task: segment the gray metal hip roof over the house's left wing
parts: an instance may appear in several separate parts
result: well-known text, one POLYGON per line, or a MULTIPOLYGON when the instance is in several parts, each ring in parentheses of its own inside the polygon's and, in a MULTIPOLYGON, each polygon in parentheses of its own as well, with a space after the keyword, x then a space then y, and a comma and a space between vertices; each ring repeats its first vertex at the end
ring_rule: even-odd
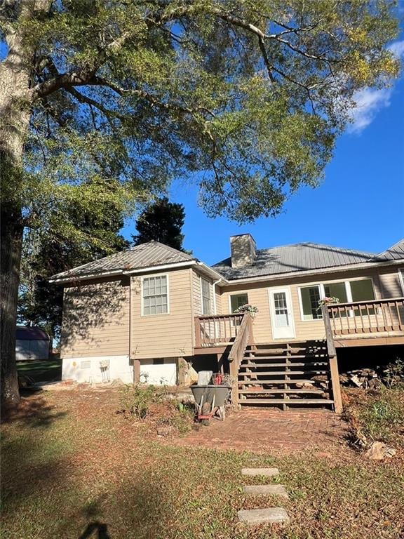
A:
POLYGON ((86 275, 102 274, 105 272, 139 270, 143 267, 159 266, 161 264, 175 264, 187 262, 196 258, 177 251, 173 247, 159 243, 159 241, 148 241, 133 248, 105 256, 99 260, 88 262, 82 266, 74 267, 67 272, 53 275, 52 279, 66 279, 68 277, 83 277, 86 275))

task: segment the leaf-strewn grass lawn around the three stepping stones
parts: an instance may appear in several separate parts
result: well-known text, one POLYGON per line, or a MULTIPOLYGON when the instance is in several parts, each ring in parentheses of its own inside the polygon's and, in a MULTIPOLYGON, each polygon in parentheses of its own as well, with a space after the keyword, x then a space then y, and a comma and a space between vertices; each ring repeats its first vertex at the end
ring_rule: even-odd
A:
POLYGON ((101 539, 398 539, 402 453, 383 463, 342 446, 268 457, 170 445, 128 420, 119 392, 46 392, 2 427, 0 537, 101 539), (290 500, 242 491, 241 467, 274 465, 290 500), (240 509, 282 505, 289 526, 248 528, 240 509))

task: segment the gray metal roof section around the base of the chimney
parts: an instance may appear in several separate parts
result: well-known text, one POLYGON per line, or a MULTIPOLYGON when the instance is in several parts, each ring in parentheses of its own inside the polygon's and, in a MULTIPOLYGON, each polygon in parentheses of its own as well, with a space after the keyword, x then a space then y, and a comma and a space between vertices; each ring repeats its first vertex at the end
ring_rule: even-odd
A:
POLYGON ((233 280, 358 264, 372 256, 373 253, 363 251, 305 243, 257 250, 255 262, 249 266, 233 268, 231 258, 226 258, 212 267, 226 279, 233 280))

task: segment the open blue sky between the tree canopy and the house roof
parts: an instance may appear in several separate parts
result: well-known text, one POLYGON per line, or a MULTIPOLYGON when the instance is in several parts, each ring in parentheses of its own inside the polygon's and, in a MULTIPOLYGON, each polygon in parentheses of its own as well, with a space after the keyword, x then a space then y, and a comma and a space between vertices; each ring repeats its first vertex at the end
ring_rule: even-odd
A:
MULTIPOLYGON (((396 44, 404 53, 404 41, 396 44)), ((313 241, 379 253, 404 237, 404 76, 392 88, 357 96, 354 124, 337 141, 316 189, 302 188, 276 218, 238 226, 207 218, 196 187, 173 185, 185 206, 184 246, 208 264, 229 255, 229 236, 250 232, 258 248, 313 241)), ((133 222, 123 229, 130 237, 133 222)))

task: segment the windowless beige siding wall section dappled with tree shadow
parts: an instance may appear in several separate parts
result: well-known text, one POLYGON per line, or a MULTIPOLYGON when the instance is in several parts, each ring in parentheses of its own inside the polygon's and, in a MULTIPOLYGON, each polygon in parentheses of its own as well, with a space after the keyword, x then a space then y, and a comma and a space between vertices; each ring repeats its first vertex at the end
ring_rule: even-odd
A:
POLYGON ((61 357, 129 353, 129 279, 65 288, 61 357))

